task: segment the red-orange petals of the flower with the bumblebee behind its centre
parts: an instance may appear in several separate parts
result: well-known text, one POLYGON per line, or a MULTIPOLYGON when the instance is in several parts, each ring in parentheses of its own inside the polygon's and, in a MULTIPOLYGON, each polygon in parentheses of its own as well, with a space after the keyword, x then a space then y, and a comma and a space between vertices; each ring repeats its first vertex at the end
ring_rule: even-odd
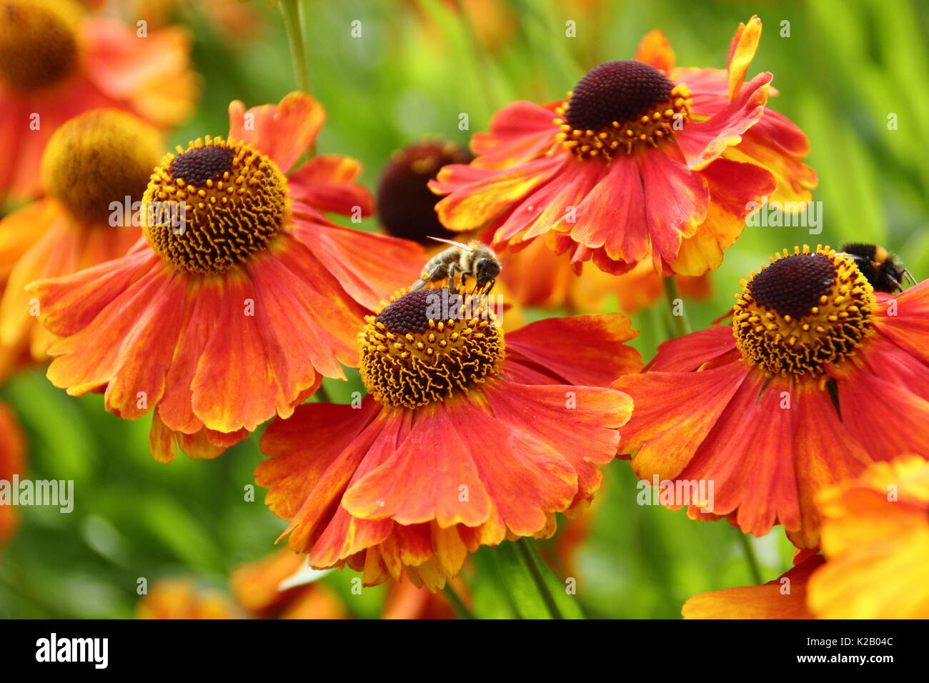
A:
POLYGON ((765 377, 740 359, 728 326, 666 342, 649 372, 613 385, 635 401, 622 453, 635 453, 641 479, 712 480, 713 515, 691 505, 692 519, 726 516, 754 535, 782 524, 794 545, 816 547, 820 491, 897 453, 929 458, 929 361, 909 346, 924 334, 927 297, 922 282, 889 315, 879 296, 877 334, 821 380, 765 377), (830 376, 855 419, 840 420, 830 376))

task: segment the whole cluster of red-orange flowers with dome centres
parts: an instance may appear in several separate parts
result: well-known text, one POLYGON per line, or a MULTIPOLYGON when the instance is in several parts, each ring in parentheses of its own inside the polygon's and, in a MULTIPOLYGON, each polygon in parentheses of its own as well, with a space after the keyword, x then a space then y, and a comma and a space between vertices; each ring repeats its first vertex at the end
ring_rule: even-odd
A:
MULTIPOLYGON (((693 598, 687 616, 744 615, 755 600, 767 615, 913 613, 925 563, 899 568, 929 537, 925 282, 897 293, 845 252, 785 249, 741 282, 731 324, 666 342, 644 368, 620 314, 504 333, 462 285, 481 314, 437 319, 433 290, 410 287, 420 244, 326 217, 370 216, 374 202, 355 160, 301 161, 325 119, 316 99, 232 102, 227 137, 164 153, 159 128, 194 95, 183 34, 165 30, 149 54, 71 5, 8 0, 0 27, 0 190, 39 197, 0 223, 0 370, 50 354, 56 387, 150 414, 164 463, 177 449, 214 458, 272 420, 255 480, 290 522, 282 537, 365 584, 436 591, 481 545, 552 535, 620 454, 648 481, 712 480, 709 509, 675 504, 693 519, 754 535, 781 525, 798 548, 787 576, 804 589, 790 601, 767 584, 693 598), (60 48, 28 52, 42 41, 60 48), (183 206, 184 222, 114 226, 124 196, 143 217, 183 206), (360 367, 365 398, 305 402, 343 366, 360 367), (879 552, 895 574, 880 595, 879 552)), ((675 66, 649 33, 635 59, 595 67, 566 98, 498 112, 473 159, 435 144, 400 154, 384 188, 422 191, 412 169, 444 198, 423 217, 382 197, 382 213, 407 230, 438 216, 508 252, 502 288, 517 306, 576 305, 581 282, 602 293, 619 276, 650 292, 635 306, 661 278, 699 289, 752 203, 802 204, 817 182, 805 135, 767 106, 772 74, 746 80, 760 34, 757 18, 740 25, 726 69, 709 69, 675 66), (595 269, 576 278, 585 262, 595 269), (527 290, 530 269, 551 286, 527 290)), ((0 412, 0 476, 21 450, 7 422, 0 412)))

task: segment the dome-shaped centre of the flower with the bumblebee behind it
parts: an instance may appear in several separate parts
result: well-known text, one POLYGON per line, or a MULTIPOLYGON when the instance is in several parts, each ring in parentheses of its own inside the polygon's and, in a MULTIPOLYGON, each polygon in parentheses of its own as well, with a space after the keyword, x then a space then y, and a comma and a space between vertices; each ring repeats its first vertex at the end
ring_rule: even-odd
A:
POLYGON ((742 281, 732 330, 742 357, 767 373, 817 376, 872 334, 877 300, 851 259, 828 246, 793 251, 742 281))

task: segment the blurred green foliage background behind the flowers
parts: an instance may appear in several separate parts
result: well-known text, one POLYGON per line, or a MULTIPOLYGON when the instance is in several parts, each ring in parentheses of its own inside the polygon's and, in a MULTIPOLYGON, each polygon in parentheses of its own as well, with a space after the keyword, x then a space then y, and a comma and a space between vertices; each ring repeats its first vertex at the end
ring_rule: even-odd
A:
MULTIPOLYGON (((280 9, 265 0, 229 4, 237 6, 229 11, 246 12, 244 32, 240 26, 230 33, 221 3, 181 2, 170 10, 172 20, 190 27, 203 74, 198 113, 172 134, 172 145, 225 135, 232 99, 252 106, 294 89, 280 9)), ((466 144, 507 102, 561 98, 597 63, 632 58, 651 29, 668 35, 680 65, 725 68, 739 21, 756 13, 765 30, 750 75, 774 73, 780 95, 769 105, 811 139, 808 163, 820 178, 814 199, 823 203, 824 230, 746 229, 713 272, 712 300, 687 305, 691 325, 707 326, 730 306, 741 276, 794 244, 882 243, 918 280, 929 272, 924 2, 307 0, 304 7, 312 90, 328 113, 318 150, 359 158, 369 188, 398 147, 427 135, 466 144), (360 37, 350 34, 353 21, 360 21, 360 37), (575 22, 576 37, 566 36, 567 21, 575 22), (782 37, 788 25, 790 35, 782 37), (462 112, 469 131, 458 129, 462 112), (896 130, 888 129, 889 114, 896 114, 896 130)), ((376 217, 362 228, 375 226, 376 217)), ((662 339, 661 315, 652 309, 634 318, 643 331, 635 346, 646 360, 662 339)), ((347 385, 327 380, 334 400, 348 401, 360 389, 352 376, 347 385)), ((20 531, 0 550, 0 616, 127 617, 139 577, 151 585, 194 574, 225 587, 230 569, 272 551, 284 523, 263 505, 263 491, 254 502, 243 495, 261 459, 258 435, 215 461, 179 455, 160 466, 148 449, 149 418, 117 419, 104 413, 98 396, 71 399, 41 370, 12 378, 0 398, 27 432, 28 476, 74 479, 76 497, 70 515, 20 508, 20 531)), ((588 535, 569 569, 556 563, 562 578, 567 571, 576 576, 587 614, 677 618, 695 593, 752 583, 738 534, 725 522, 638 506, 635 494, 628 465, 609 466, 588 535)), ((782 532, 752 544, 765 580, 789 567, 792 547, 782 532)), ((557 555, 553 542, 542 545, 557 555)), ((465 572, 475 611, 512 615, 493 561, 482 550, 465 572)), ((322 580, 346 596, 355 615, 376 616, 384 587, 351 595, 353 575, 322 580)))

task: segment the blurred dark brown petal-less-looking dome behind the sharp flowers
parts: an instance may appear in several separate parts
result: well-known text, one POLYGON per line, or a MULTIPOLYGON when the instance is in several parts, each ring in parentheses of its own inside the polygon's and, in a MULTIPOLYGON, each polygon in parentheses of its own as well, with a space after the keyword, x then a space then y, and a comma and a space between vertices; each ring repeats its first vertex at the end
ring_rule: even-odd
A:
POLYGON ((427 183, 446 164, 468 164, 472 156, 445 140, 415 142, 395 151, 381 173, 377 186, 377 210, 387 232, 394 237, 428 243, 429 237, 455 238, 456 233, 438 222, 440 197, 427 183))

